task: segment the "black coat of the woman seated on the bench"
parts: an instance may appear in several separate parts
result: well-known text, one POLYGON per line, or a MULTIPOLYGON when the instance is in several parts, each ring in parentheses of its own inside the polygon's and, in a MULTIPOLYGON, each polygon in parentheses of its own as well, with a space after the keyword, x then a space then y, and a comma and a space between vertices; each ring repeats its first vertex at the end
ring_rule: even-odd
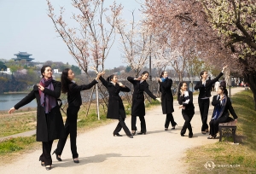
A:
MULTIPOLYGON (((217 98, 217 96, 213 96, 213 98, 212 98, 212 106, 214 106, 213 113, 214 113, 214 110, 216 109, 216 106, 218 104, 220 104, 219 97, 217 98)), ((222 115, 220 117, 229 116, 229 111, 230 111, 230 113, 231 113, 231 115, 233 116, 234 119, 238 118, 235 111, 234 111, 234 108, 232 107, 230 97, 228 97, 228 101, 227 101, 226 106, 224 108, 224 112, 222 113, 222 115)), ((213 117, 213 113, 212 113, 212 117, 213 117)))

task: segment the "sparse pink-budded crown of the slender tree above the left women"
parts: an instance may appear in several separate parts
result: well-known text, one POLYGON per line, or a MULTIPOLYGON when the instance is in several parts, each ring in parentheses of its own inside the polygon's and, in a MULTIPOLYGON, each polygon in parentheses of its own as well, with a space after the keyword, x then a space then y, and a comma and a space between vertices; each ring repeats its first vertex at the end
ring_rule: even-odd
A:
POLYGON ((118 16, 122 6, 113 3, 110 9, 104 8, 104 0, 72 0, 72 19, 77 26, 68 26, 64 20, 65 9, 61 7, 59 16, 56 16, 54 7, 47 0, 49 17, 53 21, 55 30, 67 44, 73 58, 85 73, 89 66, 102 66, 114 41, 114 28, 119 22, 118 16))

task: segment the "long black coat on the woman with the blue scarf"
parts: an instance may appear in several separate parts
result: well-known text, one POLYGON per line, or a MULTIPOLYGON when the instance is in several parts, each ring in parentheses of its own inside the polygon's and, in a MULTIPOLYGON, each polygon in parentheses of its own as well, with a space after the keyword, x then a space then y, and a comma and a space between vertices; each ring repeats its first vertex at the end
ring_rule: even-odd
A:
POLYGON ((161 105, 164 114, 173 113, 173 96, 172 96, 172 79, 166 78, 164 82, 160 83, 161 105))

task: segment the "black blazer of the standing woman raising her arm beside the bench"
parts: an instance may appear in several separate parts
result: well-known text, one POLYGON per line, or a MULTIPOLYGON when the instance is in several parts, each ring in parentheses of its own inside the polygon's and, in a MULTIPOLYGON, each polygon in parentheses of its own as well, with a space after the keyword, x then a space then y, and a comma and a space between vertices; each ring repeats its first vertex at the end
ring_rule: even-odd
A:
POLYGON ((224 73, 219 73, 218 76, 212 80, 207 79, 206 86, 202 84, 202 81, 197 82, 195 84, 195 90, 199 89, 199 96, 198 98, 204 98, 204 97, 210 97, 211 96, 211 89, 212 84, 218 81, 218 78, 220 78, 224 73))

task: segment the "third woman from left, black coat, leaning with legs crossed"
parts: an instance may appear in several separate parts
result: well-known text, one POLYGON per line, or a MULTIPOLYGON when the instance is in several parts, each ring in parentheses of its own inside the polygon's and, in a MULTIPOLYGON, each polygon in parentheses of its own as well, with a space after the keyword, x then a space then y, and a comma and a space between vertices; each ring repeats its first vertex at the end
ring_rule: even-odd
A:
POLYGON ((126 87, 124 84, 118 82, 118 78, 116 75, 111 75, 107 78, 107 81, 100 77, 102 84, 107 88, 109 98, 108 98, 108 119, 119 119, 119 124, 116 126, 113 131, 113 136, 121 136, 119 131, 123 128, 126 136, 133 138, 131 132, 128 127, 125 125, 125 107, 122 102, 121 97, 119 96, 119 92, 130 92, 130 89, 126 87))

